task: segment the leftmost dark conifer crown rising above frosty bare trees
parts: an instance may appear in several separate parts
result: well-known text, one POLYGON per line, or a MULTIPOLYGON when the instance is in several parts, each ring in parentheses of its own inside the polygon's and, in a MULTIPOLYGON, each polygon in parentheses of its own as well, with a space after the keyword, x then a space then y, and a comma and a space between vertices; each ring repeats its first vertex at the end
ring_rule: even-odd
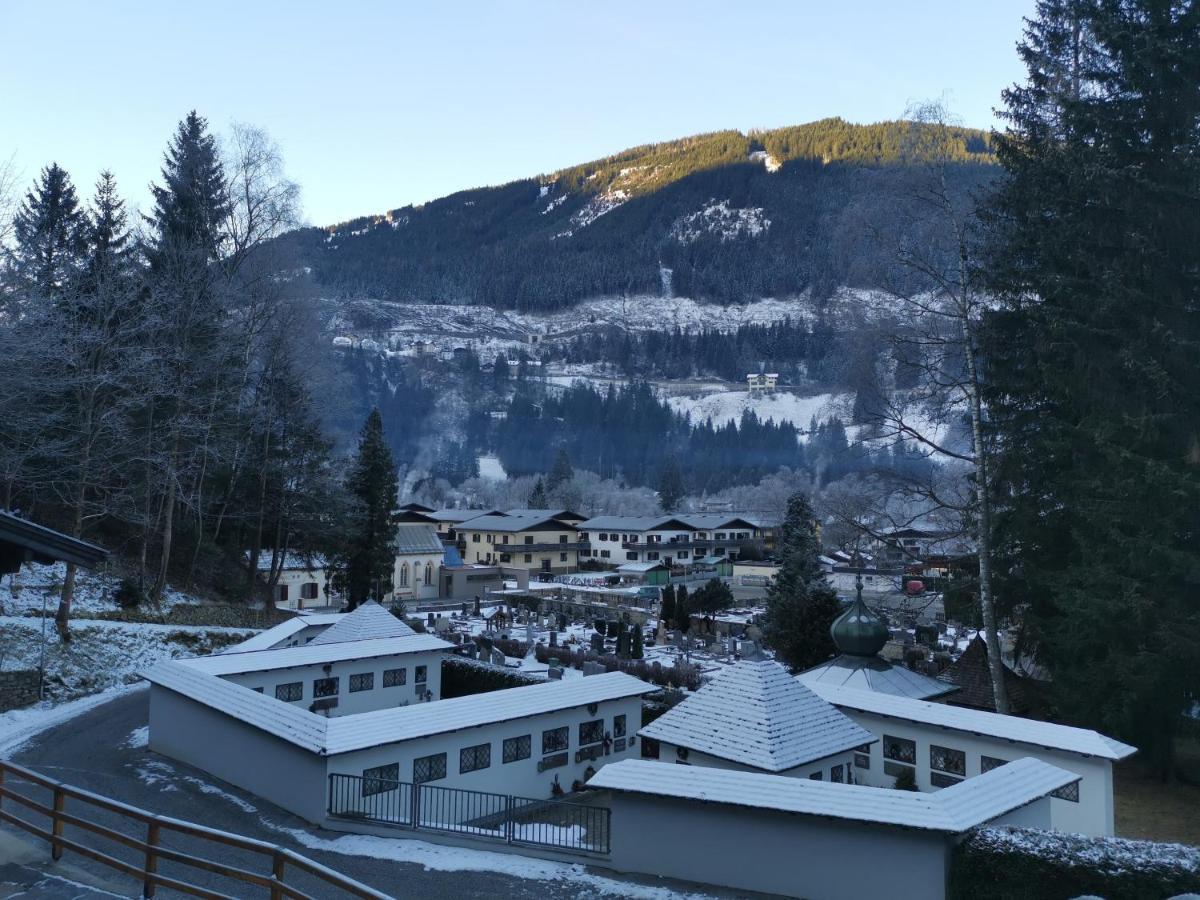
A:
POLYGON ((86 253, 88 222, 71 176, 58 163, 42 169, 13 217, 13 269, 42 296, 65 290, 86 253))

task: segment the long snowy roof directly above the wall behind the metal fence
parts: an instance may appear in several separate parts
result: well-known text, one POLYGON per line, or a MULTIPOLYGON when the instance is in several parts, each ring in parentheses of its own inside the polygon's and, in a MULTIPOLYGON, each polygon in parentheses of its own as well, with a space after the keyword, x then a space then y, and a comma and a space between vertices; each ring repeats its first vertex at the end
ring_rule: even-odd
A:
POLYGON ((637 697, 654 690, 654 685, 634 676, 607 672, 588 678, 529 684, 452 700, 343 715, 329 720, 326 752, 344 754, 448 731, 574 709, 606 700, 637 697))

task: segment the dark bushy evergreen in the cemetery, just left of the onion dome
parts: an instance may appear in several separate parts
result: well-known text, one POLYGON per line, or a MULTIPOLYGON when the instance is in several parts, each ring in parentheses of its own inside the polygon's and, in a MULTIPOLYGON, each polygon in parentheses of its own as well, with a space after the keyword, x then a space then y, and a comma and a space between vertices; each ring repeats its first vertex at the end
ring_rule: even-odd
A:
POLYGON ((841 614, 838 594, 821 569, 821 541, 803 493, 787 500, 776 556, 780 568, 767 589, 763 638, 780 662, 802 672, 834 655, 829 626, 841 614))

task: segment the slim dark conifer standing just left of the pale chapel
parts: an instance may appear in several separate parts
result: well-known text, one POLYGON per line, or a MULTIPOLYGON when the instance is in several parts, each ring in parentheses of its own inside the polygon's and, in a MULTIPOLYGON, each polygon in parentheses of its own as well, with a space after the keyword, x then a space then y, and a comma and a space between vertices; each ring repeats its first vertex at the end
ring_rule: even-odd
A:
POLYGON ((353 610, 391 589, 396 565, 398 481, 378 409, 371 410, 362 426, 347 487, 358 502, 346 554, 346 588, 353 610))

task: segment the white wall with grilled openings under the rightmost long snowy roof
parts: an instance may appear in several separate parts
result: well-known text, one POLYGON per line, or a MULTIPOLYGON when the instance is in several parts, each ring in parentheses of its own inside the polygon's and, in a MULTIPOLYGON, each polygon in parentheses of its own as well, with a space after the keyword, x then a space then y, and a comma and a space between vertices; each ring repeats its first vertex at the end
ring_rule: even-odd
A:
POLYGON ((859 784, 877 787, 892 787, 895 776, 884 773, 883 736, 892 734, 907 738, 917 744, 917 786, 922 791, 940 790, 930 781, 929 748, 930 744, 962 750, 966 754, 966 776, 980 774, 980 756, 994 756, 1000 760, 1018 760, 1033 756, 1082 776, 1079 784, 1079 803, 1052 798, 1050 815, 1054 828, 1060 832, 1111 836, 1112 823, 1112 764, 1108 760, 1069 754, 1061 750, 1048 750, 1030 744, 1019 744, 1003 738, 989 738, 962 731, 908 722, 902 719, 889 719, 874 713, 863 713, 847 707, 839 707, 860 726, 870 731, 878 742, 871 744, 870 768, 856 768, 859 784))

